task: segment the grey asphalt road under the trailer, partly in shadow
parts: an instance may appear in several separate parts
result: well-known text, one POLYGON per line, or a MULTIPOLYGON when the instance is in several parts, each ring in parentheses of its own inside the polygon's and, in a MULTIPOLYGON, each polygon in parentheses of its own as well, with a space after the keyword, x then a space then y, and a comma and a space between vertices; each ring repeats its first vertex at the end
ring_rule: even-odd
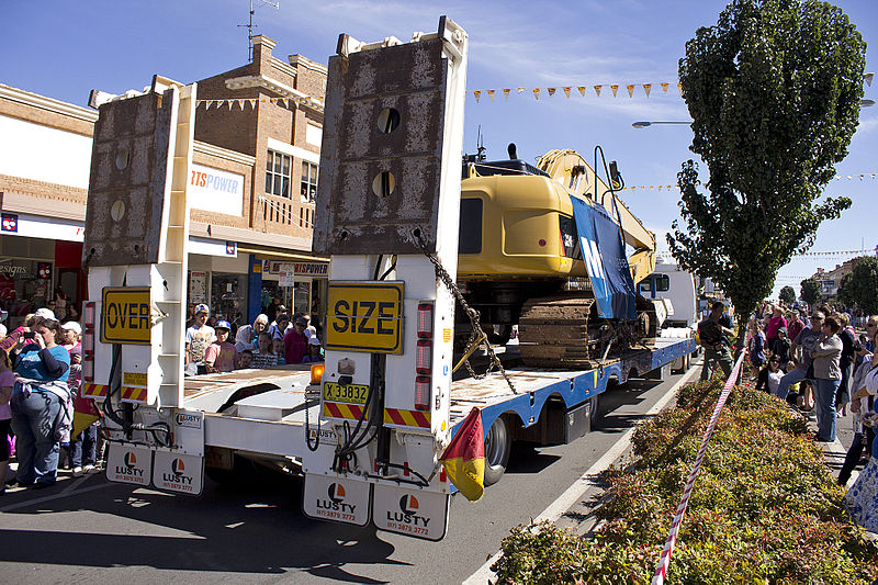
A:
MULTIPOLYGON (((571 445, 517 446, 506 475, 481 502, 452 498, 449 533, 440 542, 309 520, 300 511, 295 479, 247 488, 205 480, 195 498, 110 484, 102 475, 65 475, 53 488, 0 497, 0 574, 4 582, 31 585, 460 583, 497 552, 511 527, 539 516, 642 420, 679 378, 612 389, 603 396, 599 427, 571 445)), ((561 521, 575 527, 584 511, 576 504, 561 521)))

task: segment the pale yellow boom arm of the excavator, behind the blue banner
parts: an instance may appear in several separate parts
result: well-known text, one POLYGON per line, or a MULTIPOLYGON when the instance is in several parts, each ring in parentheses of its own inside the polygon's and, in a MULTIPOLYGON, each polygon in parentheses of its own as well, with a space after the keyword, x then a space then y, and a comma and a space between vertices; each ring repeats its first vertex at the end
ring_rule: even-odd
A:
POLYGON ((616 195, 614 189, 575 150, 550 150, 537 161, 537 167, 589 204, 599 203, 622 232, 634 252, 628 257, 634 284, 655 270, 655 235, 646 229, 631 210, 616 195))

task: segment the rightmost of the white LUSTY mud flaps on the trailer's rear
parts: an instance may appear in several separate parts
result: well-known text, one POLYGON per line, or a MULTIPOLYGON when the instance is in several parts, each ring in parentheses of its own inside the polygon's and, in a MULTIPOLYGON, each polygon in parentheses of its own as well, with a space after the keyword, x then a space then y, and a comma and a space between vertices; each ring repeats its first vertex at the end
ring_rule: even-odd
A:
POLYGON ((372 521, 379 530, 442 540, 448 531, 450 503, 449 494, 375 485, 372 521))

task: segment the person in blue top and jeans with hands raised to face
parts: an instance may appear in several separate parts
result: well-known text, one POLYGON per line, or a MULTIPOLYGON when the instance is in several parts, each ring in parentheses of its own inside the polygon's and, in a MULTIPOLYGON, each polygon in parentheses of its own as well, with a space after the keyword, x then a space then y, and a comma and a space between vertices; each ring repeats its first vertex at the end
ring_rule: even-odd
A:
POLYGON ((69 442, 72 401, 67 376, 70 355, 57 344, 60 324, 36 317, 18 333, 11 351, 15 371, 12 430, 19 458, 19 485, 48 487, 58 472, 61 442, 69 442))

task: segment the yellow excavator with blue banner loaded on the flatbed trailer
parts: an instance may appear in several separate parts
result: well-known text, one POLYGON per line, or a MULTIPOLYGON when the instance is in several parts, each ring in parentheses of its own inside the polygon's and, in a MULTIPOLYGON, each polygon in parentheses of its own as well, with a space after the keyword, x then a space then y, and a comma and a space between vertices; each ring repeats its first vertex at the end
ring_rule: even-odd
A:
POLYGON ((655 269, 655 236, 616 194, 616 162, 604 168, 607 182, 574 150, 534 167, 515 145, 508 160, 464 157, 458 282, 489 341, 518 325, 528 365, 594 367, 658 327, 635 292, 655 269))

